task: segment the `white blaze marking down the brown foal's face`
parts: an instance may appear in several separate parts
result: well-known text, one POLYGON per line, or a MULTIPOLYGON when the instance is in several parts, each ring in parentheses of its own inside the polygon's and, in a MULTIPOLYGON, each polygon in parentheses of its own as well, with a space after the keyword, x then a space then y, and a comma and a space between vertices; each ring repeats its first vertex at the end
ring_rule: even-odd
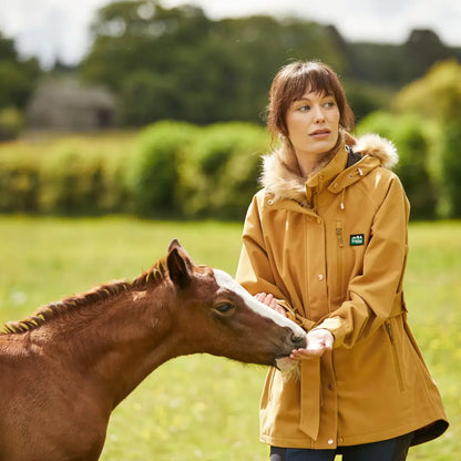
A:
POLYGON ((234 278, 232 278, 227 273, 219 269, 213 269, 216 283, 223 287, 227 288, 230 291, 236 293, 245 304, 255 313, 259 314, 263 317, 272 319, 275 324, 280 325, 281 327, 289 327, 297 335, 306 335, 301 327, 296 325, 294 321, 284 317, 281 314, 277 313, 269 306, 258 301, 254 298, 242 285, 239 285, 234 278))

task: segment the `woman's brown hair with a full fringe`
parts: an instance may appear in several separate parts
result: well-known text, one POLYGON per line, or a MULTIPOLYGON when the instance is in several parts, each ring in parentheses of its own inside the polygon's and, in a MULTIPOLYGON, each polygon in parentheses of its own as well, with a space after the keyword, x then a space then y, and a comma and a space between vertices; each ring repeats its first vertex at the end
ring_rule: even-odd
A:
POLYGON ((332 95, 339 109, 339 125, 345 130, 354 127, 355 115, 335 71, 321 62, 296 61, 283 66, 270 86, 267 127, 273 136, 288 136, 286 113, 306 90, 332 95))

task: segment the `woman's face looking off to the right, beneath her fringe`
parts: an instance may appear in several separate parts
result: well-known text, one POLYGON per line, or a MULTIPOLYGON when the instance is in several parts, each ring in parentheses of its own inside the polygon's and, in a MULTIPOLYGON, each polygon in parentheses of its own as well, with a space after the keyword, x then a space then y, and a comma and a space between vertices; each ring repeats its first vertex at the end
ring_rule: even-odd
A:
POLYGON ((339 109, 331 95, 306 91, 286 114, 288 137, 297 156, 324 154, 335 147, 339 132, 339 109))

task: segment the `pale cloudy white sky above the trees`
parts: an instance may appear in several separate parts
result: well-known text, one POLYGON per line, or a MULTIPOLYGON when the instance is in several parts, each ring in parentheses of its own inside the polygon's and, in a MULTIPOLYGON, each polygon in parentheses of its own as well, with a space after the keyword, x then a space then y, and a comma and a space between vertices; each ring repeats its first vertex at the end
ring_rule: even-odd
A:
MULTIPOLYGON (((0 0, 0 31, 14 39, 20 55, 43 68, 58 58, 76 64, 91 45, 89 25, 110 0, 0 0)), ((201 7, 211 19, 272 14, 334 24, 349 41, 402 43, 412 29, 432 29, 461 47, 459 0, 163 0, 201 7)))

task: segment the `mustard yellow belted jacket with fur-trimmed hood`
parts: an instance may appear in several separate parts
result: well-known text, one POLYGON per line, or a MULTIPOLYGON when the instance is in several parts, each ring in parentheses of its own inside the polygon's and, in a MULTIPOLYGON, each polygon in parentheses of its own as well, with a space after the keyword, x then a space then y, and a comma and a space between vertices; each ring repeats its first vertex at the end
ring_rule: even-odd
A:
POLYGON ((327 328, 334 350, 270 368, 260 439, 277 447, 332 449, 416 431, 413 444, 448 427, 436 383, 407 324, 402 278, 409 204, 386 166, 393 146, 367 135, 342 144, 306 182, 283 151, 264 162, 248 208, 238 281, 270 293, 306 330, 327 328))

